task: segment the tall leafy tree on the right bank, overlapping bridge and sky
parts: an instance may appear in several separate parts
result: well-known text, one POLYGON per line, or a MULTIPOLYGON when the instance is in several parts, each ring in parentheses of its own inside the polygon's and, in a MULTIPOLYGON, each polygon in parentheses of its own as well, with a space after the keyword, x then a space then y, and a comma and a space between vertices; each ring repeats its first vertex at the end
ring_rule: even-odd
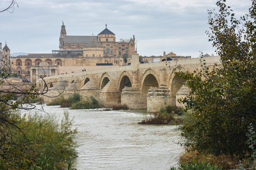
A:
POLYGON ((180 101, 188 111, 180 129, 190 148, 245 156, 247 126, 256 126, 256 0, 238 20, 226 0, 216 5, 218 12, 209 11, 207 35, 222 67, 210 70, 202 58, 193 73, 175 73, 191 89, 180 101))

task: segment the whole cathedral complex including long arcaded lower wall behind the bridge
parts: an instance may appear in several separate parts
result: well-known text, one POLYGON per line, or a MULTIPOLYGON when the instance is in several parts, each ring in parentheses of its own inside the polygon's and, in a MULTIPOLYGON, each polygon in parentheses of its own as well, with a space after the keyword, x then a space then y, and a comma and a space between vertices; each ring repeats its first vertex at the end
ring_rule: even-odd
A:
POLYGON ((130 39, 120 39, 117 42, 115 34, 107 28, 107 25, 97 36, 77 36, 67 35, 62 22, 58 41, 59 50, 52 50, 50 54, 11 57, 11 71, 24 80, 36 81, 42 76, 81 71, 85 67, 93 70, 122 66, 125 65, 123 54, 128 54, 129 63, 131 55, 137 52, 134 35, 130 39))

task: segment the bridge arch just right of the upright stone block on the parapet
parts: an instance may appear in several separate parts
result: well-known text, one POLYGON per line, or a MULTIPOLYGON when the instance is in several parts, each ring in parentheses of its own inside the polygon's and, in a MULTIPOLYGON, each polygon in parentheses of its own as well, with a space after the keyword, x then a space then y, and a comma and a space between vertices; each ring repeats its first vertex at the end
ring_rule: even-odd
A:
POLYGON ((145 108, 147 107, 148 89, 150 87, 159 87, 159 82, 159 76, 157 76, 154 70, 148 69, 143 74, 141 79, 141 102, 144 104, 145 108))

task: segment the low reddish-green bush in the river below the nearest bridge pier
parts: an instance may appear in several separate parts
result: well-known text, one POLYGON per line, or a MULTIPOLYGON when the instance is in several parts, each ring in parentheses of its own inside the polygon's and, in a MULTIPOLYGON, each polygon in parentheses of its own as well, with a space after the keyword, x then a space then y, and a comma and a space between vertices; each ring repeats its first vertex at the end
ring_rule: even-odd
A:
POLYGON ((139 124, 180 124, 182 118, 182 108, 172 107, 170 105, 163 107, 159 112, 145 115, 144 120, 138 122, 139 124))

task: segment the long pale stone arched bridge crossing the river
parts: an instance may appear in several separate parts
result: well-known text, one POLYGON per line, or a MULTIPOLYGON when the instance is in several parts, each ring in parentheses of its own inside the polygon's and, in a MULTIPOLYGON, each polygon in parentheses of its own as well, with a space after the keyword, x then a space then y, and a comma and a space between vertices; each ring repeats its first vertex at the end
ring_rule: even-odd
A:
MULTIPOLYGON (((52 101, 61 93, 65 98, 78 93, 83 98, 94 96, 104 107, 121 103, 129 109, 155 112, 166 105, 176 105, 176 94, 184 80, 175 76, 172 70, 180 65, 184 71, 193 72, 202 65, 200 59, 141 64, 139 54, 133 54, 132 65, 49 76, 40 78, 36 86, 48 88, 42 96, 45 102, 52 101)), ((221 65, 219 56, 203 59, 210 70, 221 65)))

